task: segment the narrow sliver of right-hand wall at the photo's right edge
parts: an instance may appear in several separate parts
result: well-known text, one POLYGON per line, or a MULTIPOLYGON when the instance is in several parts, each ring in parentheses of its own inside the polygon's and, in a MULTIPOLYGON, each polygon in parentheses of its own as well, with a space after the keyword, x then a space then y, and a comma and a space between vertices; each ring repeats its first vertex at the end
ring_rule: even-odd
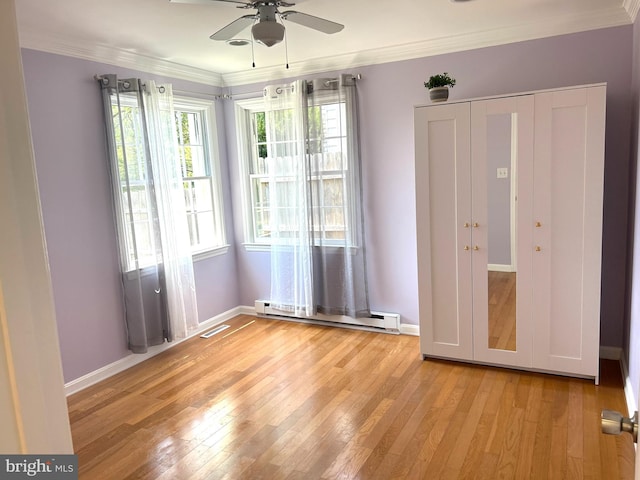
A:
MULTIPOLYGON (((640 160, 640 15, 633 26, 633 73, 632 73, 633 107, 631 130, 631 195, 635 197, 629 216, 631 256, 629 260, 630 274, 627 291, 630 293, 628 323, 625 325, 625 352, 624 360, 629 369, 629 381, 638 406, 640 389, 640 178, 637 175, 638 161, 640 160)), ((633 413, 633 412, 629 412, 633 413)))

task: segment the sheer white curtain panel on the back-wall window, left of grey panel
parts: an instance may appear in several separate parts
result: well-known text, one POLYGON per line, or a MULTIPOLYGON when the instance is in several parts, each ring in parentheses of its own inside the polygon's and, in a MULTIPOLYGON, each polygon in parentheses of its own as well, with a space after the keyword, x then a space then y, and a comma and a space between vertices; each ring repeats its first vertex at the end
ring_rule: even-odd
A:
POLYGON ((312 238, 306 161, 306 82, 264 90, 271 225, 271 306, 312 316, 312 238))

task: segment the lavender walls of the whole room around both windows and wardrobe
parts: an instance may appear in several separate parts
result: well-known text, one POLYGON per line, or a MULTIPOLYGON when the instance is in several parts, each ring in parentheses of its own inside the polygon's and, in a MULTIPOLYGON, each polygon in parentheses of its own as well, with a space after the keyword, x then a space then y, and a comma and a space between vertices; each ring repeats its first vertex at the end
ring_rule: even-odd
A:
MULTIPOLYGON (((452 98, 607 82, 601 344, 622 345, 633 33, 631 26, 618 27, 352 70, 363 74, 361 141, 373 309, 398 312, 403 322, 418 323, 413 106, 427 102, 422 82, 430 74, 448 71, 457 78, 452 98)), ((129 354, 102 106, 93 75, 154 77, 201 94, 218 90, 31 50, 23 50, 23 62, 68 382, 129 354)), ((231 93, 261 87, 236 87, 231 93)), ((195 266, 201 321, 269 295, 268 252, 241 245, 233 102, 218 110, 218 132, 231 248, 195 266)))

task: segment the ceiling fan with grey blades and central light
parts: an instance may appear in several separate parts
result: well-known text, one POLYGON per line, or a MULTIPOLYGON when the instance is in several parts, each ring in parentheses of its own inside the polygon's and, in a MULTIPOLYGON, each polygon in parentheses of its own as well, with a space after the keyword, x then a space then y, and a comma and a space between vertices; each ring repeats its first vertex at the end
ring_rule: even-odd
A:
POLYGON ((284 38, 285 27, 282 24, 282 20, 297 23, 304 27, 309 27, 314 30, 318 30, 323 33, 337 33, 344 28, 341 25, 324 18, 315 17, 306 13, 296 12, 295 10, 287 10, 281 12, 280 7, 290 8, 295 3, 282 2, 282 1, 256 1, 256 2, 243 2, 240 0, 169 0, 171 3, 197 3, 197 4, 211 4, 212 2, 224 2, 238 4, 237 8, 244 9, 256 9, 257 12, 252 15, 244 15, 226 27, 221 28, 216 33, 211 35, 211 40, 228 41, 235 37, 242 30, 253 24, 251 27, 251 35, 253 39, 272 47, 277 43, 280 43, 284 38), (281 20, 280 22, 278 20, 281 20))

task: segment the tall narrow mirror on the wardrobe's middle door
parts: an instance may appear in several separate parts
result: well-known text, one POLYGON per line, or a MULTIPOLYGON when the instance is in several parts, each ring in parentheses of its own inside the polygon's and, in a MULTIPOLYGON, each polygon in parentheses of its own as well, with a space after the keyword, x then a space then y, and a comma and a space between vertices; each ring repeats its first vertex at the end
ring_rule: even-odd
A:
POLYGON ((489 348, 516 350, 516 115, 487 116, 489 348))

